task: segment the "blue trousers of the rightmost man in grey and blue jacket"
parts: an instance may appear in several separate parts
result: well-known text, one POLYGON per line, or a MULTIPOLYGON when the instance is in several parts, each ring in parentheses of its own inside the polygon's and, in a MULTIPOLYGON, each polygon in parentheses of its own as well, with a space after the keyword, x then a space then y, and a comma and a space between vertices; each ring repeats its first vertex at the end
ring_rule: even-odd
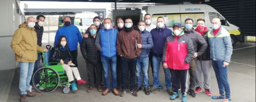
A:
POLYGON ((224 60, 212 60, 213 70, 216 75, 220 95, 226 95, 226 98, 230 98, 230 87, 227 79, 228 67, 222 67, 224 60))

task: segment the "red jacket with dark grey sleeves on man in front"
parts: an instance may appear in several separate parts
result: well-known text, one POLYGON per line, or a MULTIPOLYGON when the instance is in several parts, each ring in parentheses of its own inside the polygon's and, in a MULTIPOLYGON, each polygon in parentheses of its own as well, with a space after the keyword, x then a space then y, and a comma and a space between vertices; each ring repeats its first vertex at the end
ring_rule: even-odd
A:
POLYGON ((189 69, 189 62, 194 56, 194 46, 187 36, 173 36, 166 38, 163 48, 163 63, 167 63, 168 68, 173 70, 189 69))

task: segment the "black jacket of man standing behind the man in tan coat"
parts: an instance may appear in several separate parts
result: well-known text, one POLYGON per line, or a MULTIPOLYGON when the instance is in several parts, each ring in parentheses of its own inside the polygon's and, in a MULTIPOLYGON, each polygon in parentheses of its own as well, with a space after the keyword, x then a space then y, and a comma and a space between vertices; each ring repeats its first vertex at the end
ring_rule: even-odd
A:
POLYGON ((37 45, 42 46, 43 26, 40 27, 36 22, 36 26, 34 28, 35 28, 36 37, 37 37, 37 45))

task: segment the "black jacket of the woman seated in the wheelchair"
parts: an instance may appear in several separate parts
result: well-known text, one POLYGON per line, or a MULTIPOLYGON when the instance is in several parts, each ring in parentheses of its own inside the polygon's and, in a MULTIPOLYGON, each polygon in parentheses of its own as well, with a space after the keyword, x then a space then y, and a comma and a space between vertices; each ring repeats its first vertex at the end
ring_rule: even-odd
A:
MULTIPOLYGON (((52 54, 52 56, 50 57, 50 60, 51 61, 61 61, 61 51, 60 51, 60 47, 61 46, 56 46, 56 47, 54 47, 54 48, 52 48, 52 50, 53 50, 53 54, 52 54)), ((67 46, 68 47, 68 46, 67 46)), ((69 47, 67 48, 67 50, 68 50, 68 57, 66 57, 65 58, 65 60, 63 60, 64 61, 64 63, 68 63, 70 60, 73 60, 73 57, 71 56, 71 54, 70 54, 70 50, 69 50, 69 47)))

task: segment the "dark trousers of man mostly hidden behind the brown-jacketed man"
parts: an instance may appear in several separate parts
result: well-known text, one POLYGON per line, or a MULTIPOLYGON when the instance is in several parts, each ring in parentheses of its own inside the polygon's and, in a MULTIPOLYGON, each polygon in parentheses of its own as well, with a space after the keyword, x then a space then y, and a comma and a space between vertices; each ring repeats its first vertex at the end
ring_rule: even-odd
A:
MULTIPOLYGON (((117 85, 121 86, 122 83, 122 63, 121 63, 121 57, 117 56, 117 60, 116 60, 116 70, 117 70, 117 85)), ((126 87, 129 87, 129 83, 130 83, 130 71, 127 70, 127 74, 126 74, 126 87)))

